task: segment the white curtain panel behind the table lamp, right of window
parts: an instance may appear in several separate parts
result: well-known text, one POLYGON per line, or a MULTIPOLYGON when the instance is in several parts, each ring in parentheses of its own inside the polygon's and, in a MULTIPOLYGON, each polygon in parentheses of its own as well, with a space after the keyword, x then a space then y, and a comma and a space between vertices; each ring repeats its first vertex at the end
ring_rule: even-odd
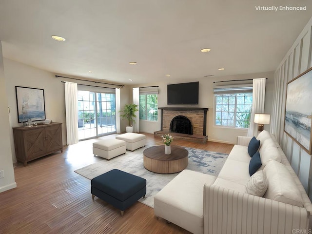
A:
POLYGON ((253 80, 253 107, 250 117, 250 126, 247 133, 248 137, 256 137, 258 135, 258 125, 254 123, 254 114, 264 113, 265 82, 266 78, 258 78, 253 80))

